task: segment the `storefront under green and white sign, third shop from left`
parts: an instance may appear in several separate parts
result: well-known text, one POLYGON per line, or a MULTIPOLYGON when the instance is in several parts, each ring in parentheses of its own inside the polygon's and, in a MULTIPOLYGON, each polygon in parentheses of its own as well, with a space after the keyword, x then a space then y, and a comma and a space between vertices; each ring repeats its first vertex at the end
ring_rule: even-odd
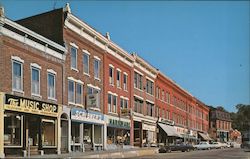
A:
POLYGON ((110 115, 105 115, 107 125, 107 149, 119 149, 130 147, 130 120, 110 115))

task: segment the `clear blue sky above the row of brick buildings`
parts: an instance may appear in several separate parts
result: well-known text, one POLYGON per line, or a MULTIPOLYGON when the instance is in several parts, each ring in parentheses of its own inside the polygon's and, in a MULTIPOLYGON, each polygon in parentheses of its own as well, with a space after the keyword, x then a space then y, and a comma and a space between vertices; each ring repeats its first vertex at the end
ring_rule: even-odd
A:
POLYGON ((61 8, 207 105, 250 104, 249 1, 0 0, 9 19, 61 8))

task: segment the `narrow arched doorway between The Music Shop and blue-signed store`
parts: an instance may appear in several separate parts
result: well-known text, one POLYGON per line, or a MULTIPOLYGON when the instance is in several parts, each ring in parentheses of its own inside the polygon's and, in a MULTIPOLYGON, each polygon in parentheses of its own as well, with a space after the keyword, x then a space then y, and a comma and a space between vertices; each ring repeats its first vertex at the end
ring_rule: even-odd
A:
POLYGON ((61 152, 68 152, 68 118, 66 114, 61 116, 61 152))

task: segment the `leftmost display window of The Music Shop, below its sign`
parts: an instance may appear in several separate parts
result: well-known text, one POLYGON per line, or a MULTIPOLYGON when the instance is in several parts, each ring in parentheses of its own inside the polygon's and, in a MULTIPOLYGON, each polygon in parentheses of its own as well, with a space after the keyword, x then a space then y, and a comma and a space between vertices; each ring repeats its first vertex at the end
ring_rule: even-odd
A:
POLYGON ((22 120, 22 116, 17 113, 4 114, 5 146, 22 146, 22 120))

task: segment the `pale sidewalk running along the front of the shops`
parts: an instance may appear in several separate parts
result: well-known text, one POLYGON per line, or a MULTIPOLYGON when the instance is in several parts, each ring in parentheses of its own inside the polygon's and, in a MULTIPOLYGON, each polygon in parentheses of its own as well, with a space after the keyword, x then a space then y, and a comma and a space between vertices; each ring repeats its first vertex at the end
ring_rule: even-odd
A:
MULTIPOLYGON (((125 150, 107 150, 107 151, 91 151, 91 152, 71 152, 67 154, 51 154, 51 155, 34 155, 30 158, 130 158, 137 156, 153 155, 158 153, 158 148, 132 148, 125 150)), ((28 158, 28 157, 6 157, 8 159, 12 158, 28 158)))

